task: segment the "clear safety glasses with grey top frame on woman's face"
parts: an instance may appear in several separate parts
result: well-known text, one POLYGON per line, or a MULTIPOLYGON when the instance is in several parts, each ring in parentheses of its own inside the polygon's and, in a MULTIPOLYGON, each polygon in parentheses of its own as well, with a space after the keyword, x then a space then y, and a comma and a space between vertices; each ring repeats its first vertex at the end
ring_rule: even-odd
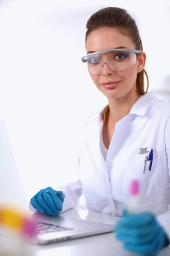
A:
POLYGON ((100 52, 93 52, 81 58, 88 67, 90 75, 97 75, 102 72, 105 63, 114 70, 122 71, 136 63, 136 54, 142 53, 134 49, 108 49, 100 52))

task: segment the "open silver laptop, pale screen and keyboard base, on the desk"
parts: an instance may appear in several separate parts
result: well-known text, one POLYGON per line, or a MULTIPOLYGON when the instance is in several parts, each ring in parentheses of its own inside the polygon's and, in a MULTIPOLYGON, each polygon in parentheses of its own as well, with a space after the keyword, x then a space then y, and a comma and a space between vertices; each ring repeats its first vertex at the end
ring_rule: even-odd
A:
MULTIPOLYGON (((6 125, 0 119, 0 204, 2 203, 28 208, 6 125)), ((49 216, 40 212, 32 214, 37 220, 35 244, 49 244, 113 232, 111 224, 72 219, 62 215, 49 216)))

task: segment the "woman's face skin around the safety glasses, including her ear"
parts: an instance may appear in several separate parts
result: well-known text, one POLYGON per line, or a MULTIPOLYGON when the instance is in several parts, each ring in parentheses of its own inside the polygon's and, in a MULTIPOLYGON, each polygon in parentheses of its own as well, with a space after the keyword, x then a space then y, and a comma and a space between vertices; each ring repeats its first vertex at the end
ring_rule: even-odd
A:
MULTIPOLYGON (((98 52, 120 47, 135 49, 133 41, 131 41, 128 36, 122 35, 117 29, 108 27, 94 30, 90 35, 88 35, 86 41, 87 52, 98 52)), ((107 63, 104 63, 101 73, 91 75, 91 78, 96 87, 108 99, 117 99, 129 94, 130 92, 136 93, 137 73, 141 72, 144 68, 145 60, 145 53, 142 53, 139 56, 136 55, 136 63, 122 71, 114 71, 107 63), (104 87, 102 84, 103 82, 108 81, 118 81, 119 83, 117 83, 116 87, 109 89, 104 87)), ((107 59, 105 61, 107 61, 107 59)))

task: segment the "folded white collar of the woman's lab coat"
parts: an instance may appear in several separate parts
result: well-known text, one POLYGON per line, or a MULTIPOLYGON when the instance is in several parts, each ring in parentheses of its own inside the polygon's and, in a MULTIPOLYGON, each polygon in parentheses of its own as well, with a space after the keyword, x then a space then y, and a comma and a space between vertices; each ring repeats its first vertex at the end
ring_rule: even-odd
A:
MULTIPOLYGON (((138 116, 144 116, 147 109, 149 108, 151 102, 157 99, 156 94, 154 91, 150 91, 149 93, 145 93, 144 95, 140 96, 139 99, 133 104, 129 114, 136 114, 138 116)), ((104 112, 105 108, 102 109, 99 113, 98 121, 101 121, 102 113, 104 112)))

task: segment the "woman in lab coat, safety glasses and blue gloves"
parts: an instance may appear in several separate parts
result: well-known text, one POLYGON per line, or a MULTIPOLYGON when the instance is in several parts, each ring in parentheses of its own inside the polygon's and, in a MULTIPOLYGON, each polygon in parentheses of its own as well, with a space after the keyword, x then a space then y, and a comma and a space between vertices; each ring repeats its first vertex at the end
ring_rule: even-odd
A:
POLYGON ((63 210, 73 208, 84 193, 88 209, 124 216, 115 231, 126 249, 155 255, 170 238, 170 104, 147 93, 146 54, 124 9, 101 9, 86 27, 82 61, 108 106, 86 122, 79 180, 62 191, 42 189, 31 204, 55 215, 64 201, 63 210), (141 193, 128 215, 122 210, 133 179, 141 181, 141 193))

